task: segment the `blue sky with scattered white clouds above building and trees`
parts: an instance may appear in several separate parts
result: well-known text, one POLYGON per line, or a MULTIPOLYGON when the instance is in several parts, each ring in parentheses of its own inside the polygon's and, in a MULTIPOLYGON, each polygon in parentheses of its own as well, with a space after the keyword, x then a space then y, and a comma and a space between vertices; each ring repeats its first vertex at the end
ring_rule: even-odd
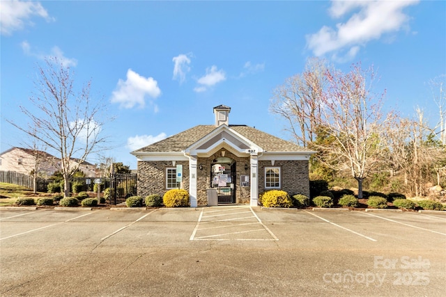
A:
POLYGON ((132 150, 212 125, 220 104, 230 124, 291 139, 270 98, 312 56, 341 70, 374 65, 386 109, 438 118, 426 83, 446 73, 446 1, 2 0, 0 11, 1 152, 23 146, 6 119, 26 123, 18 106, 29 106, 48 56, 72 67, 78 86, 91 79, 93 99, 116 117, 103 155, 131 168, 132 150))

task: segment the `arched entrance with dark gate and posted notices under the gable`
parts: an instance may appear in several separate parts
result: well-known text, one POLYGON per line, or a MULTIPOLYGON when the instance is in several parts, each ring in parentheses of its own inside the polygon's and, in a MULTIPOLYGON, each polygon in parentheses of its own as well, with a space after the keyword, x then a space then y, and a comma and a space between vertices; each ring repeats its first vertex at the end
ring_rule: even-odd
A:
POLYGON ((236 161, 220 156, 210 164, 210 187, 217 189, 219 204, 236 203, 236 161))

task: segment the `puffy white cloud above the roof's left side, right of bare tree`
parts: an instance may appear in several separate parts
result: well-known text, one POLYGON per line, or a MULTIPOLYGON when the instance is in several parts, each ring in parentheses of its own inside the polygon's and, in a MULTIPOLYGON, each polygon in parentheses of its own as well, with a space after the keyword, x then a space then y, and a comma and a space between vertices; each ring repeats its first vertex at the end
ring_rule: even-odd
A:
MULTIPOLYGON (((146 106, 146 97, 156 99, 160 96, 161 90, 157 86, 157 81, 152 77, 142 77, 133 70, 127 71, 127 80, 118 80, 116 90, 112 93, 112 103, 119 103, 124 109, 131 109, 139 104, 139 107, 146 106)), ((153 104, 153 102, 150 102, 153 104)), ((154 107, 157 111, 157 106, 154 107)))

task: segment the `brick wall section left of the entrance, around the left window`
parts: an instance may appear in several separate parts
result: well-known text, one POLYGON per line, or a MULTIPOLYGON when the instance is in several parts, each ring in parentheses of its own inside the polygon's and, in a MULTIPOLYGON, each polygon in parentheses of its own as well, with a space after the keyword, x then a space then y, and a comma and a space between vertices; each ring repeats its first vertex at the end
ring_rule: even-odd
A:
MULTIPOLYGON (((176 161, 175 165, 183 165, 183 188, 189 191, 189 162, 176 161)), ((138 161, 138 195, 158 194, 161 197, 166 188, 166 168, 174 168, 172 161, 138 161)))

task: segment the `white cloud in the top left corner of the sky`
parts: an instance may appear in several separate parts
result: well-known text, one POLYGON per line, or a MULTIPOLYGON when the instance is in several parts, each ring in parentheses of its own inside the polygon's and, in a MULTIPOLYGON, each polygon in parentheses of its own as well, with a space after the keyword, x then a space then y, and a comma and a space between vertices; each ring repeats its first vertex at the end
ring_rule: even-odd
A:
POLYGON ((35 1, 0 1, 0 31, 3 35, 11 35, 21 30, 25 22, 33 24, 29 19, 34 15, 43 17, 47 22, 53 21, 40 2, 35 1))

